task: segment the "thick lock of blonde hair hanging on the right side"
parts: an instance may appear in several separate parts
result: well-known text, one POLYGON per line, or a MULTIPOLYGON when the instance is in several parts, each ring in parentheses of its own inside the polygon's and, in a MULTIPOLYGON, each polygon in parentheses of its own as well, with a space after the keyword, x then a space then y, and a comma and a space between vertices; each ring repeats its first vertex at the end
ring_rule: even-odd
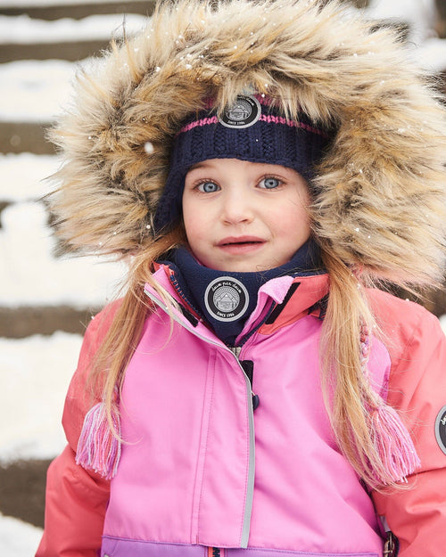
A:
POLYGON ((361 351, 361 330, 378 334, 364 284, 328 250, 322 258, 330 277, 322 326, 320 362, 326 408, 343 455, 369 487, 404 487, 392 478, 377 450, 374 411, 384 401, 372 389, 361 351))

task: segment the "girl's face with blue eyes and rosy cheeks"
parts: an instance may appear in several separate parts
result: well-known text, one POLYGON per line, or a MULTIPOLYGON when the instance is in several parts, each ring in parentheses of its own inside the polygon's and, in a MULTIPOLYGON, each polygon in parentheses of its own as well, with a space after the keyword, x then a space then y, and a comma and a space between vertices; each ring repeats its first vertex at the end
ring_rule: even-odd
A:
POLYGON ((307 183, 291 168, 238 159, 204 160, 186 175, 189 247, 219 271, 284 265, 310 237, 307 183))

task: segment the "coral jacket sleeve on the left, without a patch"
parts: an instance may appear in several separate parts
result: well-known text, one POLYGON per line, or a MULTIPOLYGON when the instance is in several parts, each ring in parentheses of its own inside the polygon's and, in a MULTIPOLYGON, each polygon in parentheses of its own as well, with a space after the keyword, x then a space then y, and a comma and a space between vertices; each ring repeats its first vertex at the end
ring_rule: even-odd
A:
POLYGON ((96 557, 101 547, 110 482, 76 464, 85 414, 97 402, 88 393, 87 374, 110 324, 113 307, 88 325, 78 368, 70 382, 62 423, 68 446, 51 463, 46 478, 45 529, 36 557, 96 557))

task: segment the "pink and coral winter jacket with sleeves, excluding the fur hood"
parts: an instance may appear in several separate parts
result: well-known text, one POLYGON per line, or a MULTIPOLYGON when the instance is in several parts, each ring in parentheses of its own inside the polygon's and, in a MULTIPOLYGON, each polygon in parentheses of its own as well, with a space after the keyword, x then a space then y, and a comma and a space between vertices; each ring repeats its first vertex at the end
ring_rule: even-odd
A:
MULTIPOLYGON (((169 290, 161 267, 158 280, 169 290)), ((260 289, 240 353, 203 324, 175 312, 151 315, 126 374, 118 473, 109 482, 74 463, 87 364, 106 331, 87 330, 63 423, 69 446, 48 473, 45 534, 38 557, 382 557, 380 520, 333 437, 319 386, 321 321, 314 307, 326 275, 291 277, 260 289), (281 311, 278 311, 281 309, 281 311), (240 362, 253 362, 252 389, 240 362), (111 487, 111 488, 110 488, 111 487), (209 549, 211 548, 211 549, 209 549), (216 549, 212 549, 216 548, 216 549), (213 552, 213 553, 212 553, 213 552)), ((146 293, 162 306, 155 292, 146 293)), ((173 291, 171 291, 174 294, 173 291)), ((434 423, 446 404, 446 341, 422 307, 370 291, 390 348, 374 339, 369 372, 402 412, 422 461, 415 489, 372 494, 400 538, 401 557, 440 557, 446 544, 446 455, 434 423), (403 321, 402 321, 403 320, 403 321)))

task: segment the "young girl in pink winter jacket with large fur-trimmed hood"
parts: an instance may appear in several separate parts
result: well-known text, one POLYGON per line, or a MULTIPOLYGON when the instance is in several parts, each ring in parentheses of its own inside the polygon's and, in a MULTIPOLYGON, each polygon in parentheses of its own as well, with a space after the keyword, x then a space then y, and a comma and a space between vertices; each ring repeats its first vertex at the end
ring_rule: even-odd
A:
POLYGON ((54 130, 88 326, 39 557, 440 557, 444 111, 337 2, 169 4, 54 130))

